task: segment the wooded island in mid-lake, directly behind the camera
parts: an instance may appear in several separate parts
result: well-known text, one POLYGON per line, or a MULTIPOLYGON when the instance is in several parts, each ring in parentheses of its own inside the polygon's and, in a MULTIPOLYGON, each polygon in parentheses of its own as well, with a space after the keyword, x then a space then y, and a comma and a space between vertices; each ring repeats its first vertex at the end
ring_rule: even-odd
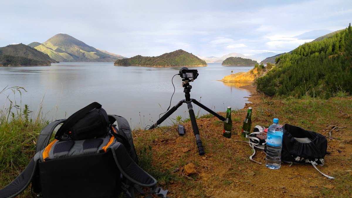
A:
POLYGON ((131 58, 124 58, 117 60, 115 66, 148 66, 148 67, 202 67, 207 66, 207 63, 197 56, 183 51, 182 49, 173 52, 165 53, 160 56, 133 56, 131 58))

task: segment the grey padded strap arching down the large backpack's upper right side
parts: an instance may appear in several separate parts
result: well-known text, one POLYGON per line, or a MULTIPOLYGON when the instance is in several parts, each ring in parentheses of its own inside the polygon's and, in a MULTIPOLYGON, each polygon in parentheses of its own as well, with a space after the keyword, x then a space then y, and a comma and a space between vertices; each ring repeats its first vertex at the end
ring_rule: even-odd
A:
POLYGON ((115 121, 117 122, 117 134, 120 134, 126 138, 128 143, 131 146, 131 157, 138 164, 138 157, 136 153, 136 149, 134 148, 133 144, 133 139, 132 139, 132 133, 131 133, 131 128, 130 124, 128 124, 128 121, 126 118, 122 116, 117 116, 117 115, 108 115, 109 118, 109 123, 113 124, 115 121))

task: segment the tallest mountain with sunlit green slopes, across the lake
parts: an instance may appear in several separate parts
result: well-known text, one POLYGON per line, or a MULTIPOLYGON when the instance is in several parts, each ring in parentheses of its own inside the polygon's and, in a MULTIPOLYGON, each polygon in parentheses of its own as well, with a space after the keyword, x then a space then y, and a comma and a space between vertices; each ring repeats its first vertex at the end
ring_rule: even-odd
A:
POLYGON ((67 34, 59 33, 44 43, 33 42, 29 46, 64 62, 114 62, 122 56, 102 52, 67 34))

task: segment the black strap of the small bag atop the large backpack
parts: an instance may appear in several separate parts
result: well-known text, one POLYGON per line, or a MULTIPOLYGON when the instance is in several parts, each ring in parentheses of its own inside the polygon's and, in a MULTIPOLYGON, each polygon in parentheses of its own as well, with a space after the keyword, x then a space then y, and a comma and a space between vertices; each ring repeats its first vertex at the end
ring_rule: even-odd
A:
POLYGON ((101 104, 94 102, 72 114, 66 119, 65 123, 59 128, 59 130, 57 130, 57 133, 55 134, 55 139, 59 140, 60 137, 64 134, 64 132, 69 130, 69 128, 74 125, 79 119, 83 118, 87 113, 89 113, 89 111, 100 107, 101 104))

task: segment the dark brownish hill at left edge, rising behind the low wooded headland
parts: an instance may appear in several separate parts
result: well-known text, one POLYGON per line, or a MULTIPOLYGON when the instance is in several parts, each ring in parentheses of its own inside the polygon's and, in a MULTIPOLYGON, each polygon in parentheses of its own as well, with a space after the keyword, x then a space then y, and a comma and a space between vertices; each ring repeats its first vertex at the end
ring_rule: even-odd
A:
POLYGON ((0 55, 10 55, 15 57, 20 56, 24 58, 30 58, 32 60, 49 63, 49 65, 50 63, 57 63, 56 60, 53 60, 48 55, 43 54, 42 52, 22 43, 17 45, 7 45, 6 47, 0 48, 0 55))

